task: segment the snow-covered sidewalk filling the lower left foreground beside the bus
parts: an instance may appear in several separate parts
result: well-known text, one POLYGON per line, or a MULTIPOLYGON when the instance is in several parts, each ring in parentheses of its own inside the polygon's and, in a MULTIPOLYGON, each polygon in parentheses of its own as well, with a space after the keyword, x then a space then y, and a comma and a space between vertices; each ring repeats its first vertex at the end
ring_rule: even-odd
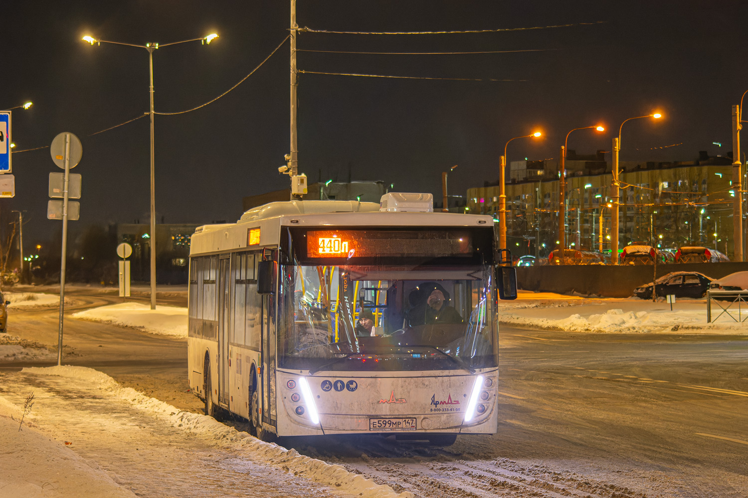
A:
POLYGON ((0 373, 0 386, 0 498, 412 497, 85 367, 0 373), (19 434, 8 417, 31 393, 19 434))

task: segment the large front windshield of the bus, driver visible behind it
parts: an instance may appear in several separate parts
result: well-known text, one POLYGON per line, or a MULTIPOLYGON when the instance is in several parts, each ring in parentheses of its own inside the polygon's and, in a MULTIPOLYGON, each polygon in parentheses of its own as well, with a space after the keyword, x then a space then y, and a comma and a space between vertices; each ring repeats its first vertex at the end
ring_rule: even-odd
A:
POLYGON ((279 367, 458 370, 497 365, 491 265, 281 265, 279 367))

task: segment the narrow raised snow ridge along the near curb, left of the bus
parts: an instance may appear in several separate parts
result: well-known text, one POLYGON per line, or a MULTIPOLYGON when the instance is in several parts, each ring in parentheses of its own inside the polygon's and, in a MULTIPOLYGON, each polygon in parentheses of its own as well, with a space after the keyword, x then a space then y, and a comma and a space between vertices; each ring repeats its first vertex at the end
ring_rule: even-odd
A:
POLYGON ((27 367, 22 370, 28 373, 81 379, 96 382, 99 389, 108 391, 114 396, 130 402, 135 408, 141 408, 158 414, 169 420, 172 426, 193 429, 212 436, 215 441, 233 443, 237 448, 245 449, 252 457, 262 458, 269 464, 281 467, 298 476, 330 485, 339 490, 357 493, 364 498, 413 498, 413 494, 404 491, 397 494, 390 486, 378 485, 356 473, 349 472, 342 465, 328 464, 317 458, 299 455, 295 449, 286 449, 275 443, 266 443, 252 437, 247 432, 239 432, 233 427, 225 426, 212 417, 180 411, 174 406, 159 399, 139 393, 132 387, 123 387, 105 373, 87 367, 27 367))

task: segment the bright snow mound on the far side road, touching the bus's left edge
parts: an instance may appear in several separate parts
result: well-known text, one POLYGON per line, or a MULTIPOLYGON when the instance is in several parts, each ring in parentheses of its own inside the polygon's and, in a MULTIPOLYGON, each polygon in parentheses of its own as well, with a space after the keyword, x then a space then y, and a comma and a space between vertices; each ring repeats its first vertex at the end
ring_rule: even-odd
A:
POLYGON ((176 306, 156 306, 138 302, 123 302, 117 305, 101 306, 73 313, 70 317, 92 322, 135 327, 152 334, 187 337, 187 308, 176 306))

